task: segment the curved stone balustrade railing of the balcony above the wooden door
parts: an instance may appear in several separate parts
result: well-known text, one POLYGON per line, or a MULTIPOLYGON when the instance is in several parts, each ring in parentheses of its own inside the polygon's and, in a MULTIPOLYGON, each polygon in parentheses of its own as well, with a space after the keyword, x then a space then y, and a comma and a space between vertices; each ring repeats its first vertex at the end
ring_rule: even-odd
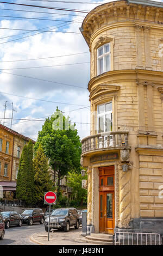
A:
POLYGON ((129 131, 102 132, 82 139, 82 153, 95 149, 114 148, 128 145, 129 131))

